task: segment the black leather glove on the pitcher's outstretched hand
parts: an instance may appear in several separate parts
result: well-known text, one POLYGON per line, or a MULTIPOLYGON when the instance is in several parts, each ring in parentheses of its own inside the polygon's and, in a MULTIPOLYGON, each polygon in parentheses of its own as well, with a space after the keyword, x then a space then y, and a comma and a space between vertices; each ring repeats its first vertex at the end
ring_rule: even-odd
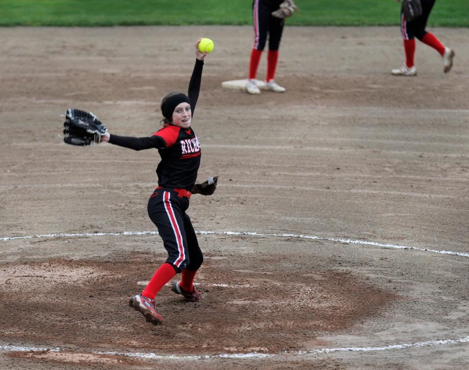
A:
POLYGON ((64 142, 71 145, 88 146, 100 143, 107 133, 106 126, 91 112, 68 109, 65 113, 64 142))

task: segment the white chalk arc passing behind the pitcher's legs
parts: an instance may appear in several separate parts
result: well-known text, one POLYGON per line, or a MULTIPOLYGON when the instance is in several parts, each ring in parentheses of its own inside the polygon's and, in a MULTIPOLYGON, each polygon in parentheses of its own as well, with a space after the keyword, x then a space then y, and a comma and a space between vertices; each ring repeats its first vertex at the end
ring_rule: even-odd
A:
MULTIPOLYGON (((324 238, 321 236, 314 236, 314 235, 297 235, 297 234, 262 234, 252 231, 204 231, 199 230, 195 231, 196 234, 199 235, 249 235, 249 236, 256 236, 256 237, 277 237, 277 238, 298 238, 298 239, 309 239, 309 240, 323 240, 329 242, 339 242, 345 244, 358 244, 363 246, 373 246, 373 247, 382 247, 382 248, 395 248, 395 249, 412 249, 412 250, 419 250, 422 252, 430 252, 430 253, 439 253, 439 254, 448 254, 452 256, 460 256, 460 257, 469 257, 469 253, 463 252, 454 252, 451 250, 438 250, 438 249, 430 249, 430 248, 422 248, 422 247, 408 247, 408 246, 400 246, 395 244, 383 244, 383 243, 376 243, 376 242, 366 242, 363 240, 352 240, 352 239, 341 239, 341 238, 324 238)), ((33 239, 33 238, 76 238, 76 237, 95 237, 95 236, 120 236, 120 235, 157 235, 157 231, 124 231, 124 232, 95 232, 95 233, 76 233, 76 234, 39 234, 39 235, 29 235, 29 236, 10 236, 0 238, 0 241, 6 242, 10 240, 17 240, 17 239, 33 239)))

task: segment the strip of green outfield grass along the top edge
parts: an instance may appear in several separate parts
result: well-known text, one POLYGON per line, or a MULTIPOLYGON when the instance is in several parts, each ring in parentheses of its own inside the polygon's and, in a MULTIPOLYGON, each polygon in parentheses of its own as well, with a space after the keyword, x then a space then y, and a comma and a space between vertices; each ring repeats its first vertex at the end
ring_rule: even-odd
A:
MULTIPOLYGON (((399 24, 394 0, 297 0, 289 25, 399 24)), ((252 0, 0 0, 0 26, 251 24, 252 0)), ((469 0, 438 0, 430 26, 469 27, 469 0)))

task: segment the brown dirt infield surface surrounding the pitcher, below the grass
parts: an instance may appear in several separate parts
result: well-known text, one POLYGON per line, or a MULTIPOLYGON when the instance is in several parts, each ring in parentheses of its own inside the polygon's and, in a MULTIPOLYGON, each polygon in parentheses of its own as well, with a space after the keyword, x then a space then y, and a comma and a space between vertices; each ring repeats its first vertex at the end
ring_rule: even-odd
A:
POLYGON ((0 29, 0 367, 468 368, 469 31, 434 33, 453 70, 418 44, 418 77, 396 78, 398 28, 288 27, 287 92, 250 96, 221 88, 250 27, 0 29), (199 36, 199 179, 219 176, 188 211, 203 299, 164 287, 153 327, 127 301, 166 258, 138 233, 158 153, 66 145, 60 114, 152 134, 199 36))

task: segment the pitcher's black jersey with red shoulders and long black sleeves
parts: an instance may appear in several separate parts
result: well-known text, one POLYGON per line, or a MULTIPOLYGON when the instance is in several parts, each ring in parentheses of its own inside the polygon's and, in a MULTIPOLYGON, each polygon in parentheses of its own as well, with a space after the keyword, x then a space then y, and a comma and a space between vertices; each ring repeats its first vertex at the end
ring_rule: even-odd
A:
MULTIPOLYGON (((203 61, 196 60, 189 82, 188 98, 191 104, 192 118, 197 103, 202 79, 203 61)), ((191 190, 197 179, 200 166, 200 144, 191 127, 184 129, 166 124, 150 137, 134 138, 111 134, 110 144, 124 146, 134 150, 156 148, 161 161, 156 168, 158 185, 191 190)))

